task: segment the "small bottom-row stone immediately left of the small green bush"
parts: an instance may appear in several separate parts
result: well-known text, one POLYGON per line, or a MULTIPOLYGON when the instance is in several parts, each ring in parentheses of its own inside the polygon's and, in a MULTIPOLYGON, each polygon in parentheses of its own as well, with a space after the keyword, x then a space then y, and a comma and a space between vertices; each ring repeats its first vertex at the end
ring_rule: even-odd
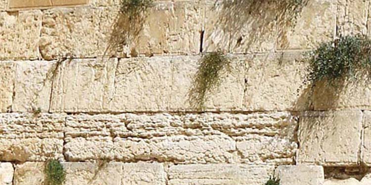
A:
POLYGON ((15 165, 14 185, 43 185, 45 163, 25 162, 15 165))

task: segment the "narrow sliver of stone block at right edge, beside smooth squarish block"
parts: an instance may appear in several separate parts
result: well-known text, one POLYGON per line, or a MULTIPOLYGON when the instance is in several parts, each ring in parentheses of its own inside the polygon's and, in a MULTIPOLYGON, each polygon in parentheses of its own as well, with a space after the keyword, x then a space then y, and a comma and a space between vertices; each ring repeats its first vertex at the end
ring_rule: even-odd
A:
POLYGON ((361 161, 371 166, 371 111, 364 111, 364 133, 361 148, 361 161))

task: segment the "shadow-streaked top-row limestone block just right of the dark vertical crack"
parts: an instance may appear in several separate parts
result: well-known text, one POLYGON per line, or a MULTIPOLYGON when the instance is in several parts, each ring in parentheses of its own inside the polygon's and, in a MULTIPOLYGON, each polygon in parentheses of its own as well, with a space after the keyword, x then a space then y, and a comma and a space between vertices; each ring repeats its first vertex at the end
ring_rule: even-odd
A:
POLYGON ((251 7, 250 0, 201 2, 205 12, 204 51, 260 53, 275 49, 277 10, 274 5, 263 1, 259 7, 251 7))

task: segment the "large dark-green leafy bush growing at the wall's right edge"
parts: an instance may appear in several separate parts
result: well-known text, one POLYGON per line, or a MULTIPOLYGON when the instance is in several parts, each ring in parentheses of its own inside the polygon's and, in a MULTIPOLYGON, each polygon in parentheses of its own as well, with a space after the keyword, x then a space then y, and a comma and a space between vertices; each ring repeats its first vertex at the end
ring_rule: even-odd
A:
POLYGON ((307 81, 329 84, 346 78, 356 79, 358 73, 371 72, 371 40, 365 36, 346 36, 321 44, 310 52, 307 81))

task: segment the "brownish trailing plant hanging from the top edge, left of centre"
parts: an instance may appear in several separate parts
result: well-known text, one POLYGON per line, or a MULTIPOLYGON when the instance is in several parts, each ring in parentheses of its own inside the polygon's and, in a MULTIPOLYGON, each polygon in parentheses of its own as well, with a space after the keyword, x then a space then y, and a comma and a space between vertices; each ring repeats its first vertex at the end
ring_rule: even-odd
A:
POLYGON ((153 0, 121 0, 120 11, 113 25, 104 56, 123 51, 125 45, 138 40, 147 16, 147 9, 152 4, 153 0))

